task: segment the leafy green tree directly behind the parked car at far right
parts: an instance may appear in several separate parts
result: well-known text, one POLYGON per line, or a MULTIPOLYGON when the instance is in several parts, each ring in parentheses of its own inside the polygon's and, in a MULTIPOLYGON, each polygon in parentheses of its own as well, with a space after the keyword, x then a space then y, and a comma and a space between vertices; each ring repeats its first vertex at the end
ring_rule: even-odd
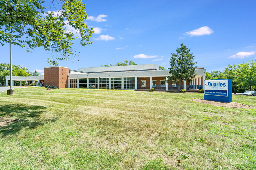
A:
POLYGON ((244 88, 252 90, 256 86, 256 60, 238 64, 238 82, 244 88))

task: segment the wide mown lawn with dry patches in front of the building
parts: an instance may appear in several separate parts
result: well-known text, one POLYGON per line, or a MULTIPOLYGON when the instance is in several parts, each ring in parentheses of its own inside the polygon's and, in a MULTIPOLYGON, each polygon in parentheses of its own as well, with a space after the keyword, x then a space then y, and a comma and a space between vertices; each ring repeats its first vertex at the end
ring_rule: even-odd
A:
POLYGON ((45 89, 0 93, 0 117, 20 119, 0 129, 0 169, 256 169, 256 109, 187 100, 197 93, 45 89))

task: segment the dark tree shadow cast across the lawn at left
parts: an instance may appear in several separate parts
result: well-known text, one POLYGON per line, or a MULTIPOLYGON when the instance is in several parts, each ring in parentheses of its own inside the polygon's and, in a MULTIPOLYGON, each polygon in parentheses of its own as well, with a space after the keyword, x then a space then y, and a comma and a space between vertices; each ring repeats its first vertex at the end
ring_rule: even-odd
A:
POLYGON ((46 108, 44 106, 26 106, 21 104, 0 105, 0 117, 14 116, 19 119, 12 124, 0 128, 0 134, 4 137, 15 134, 23 128, 34 129, 48 122, 55 122, 57 120, 56 117, 40 117, 46 108))

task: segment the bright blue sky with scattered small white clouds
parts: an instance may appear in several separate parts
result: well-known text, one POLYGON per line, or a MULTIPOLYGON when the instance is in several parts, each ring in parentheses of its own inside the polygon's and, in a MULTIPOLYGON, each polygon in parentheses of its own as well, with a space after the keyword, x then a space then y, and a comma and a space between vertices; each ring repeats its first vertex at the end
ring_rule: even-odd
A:
MULTIPOLYGON (((185 43, 206 71, 256 58, 256 1, 84 1, 93 43, 73 49, 80 58, 60 66, 99 67, 132 60, 169 67, 171 53, 185 43), (96 34, 97 33, 97 34, 96 34), (78 61, 79 60, 79 61, 78 61)), ((50 9, 49 9, 50 10, 50 9)), ((1 63, 9 63, 9 46, 0 46, 1 63)), ((51 57, 43 49, 27 53, 12 46, 12 64, 44 70, 51 57)))

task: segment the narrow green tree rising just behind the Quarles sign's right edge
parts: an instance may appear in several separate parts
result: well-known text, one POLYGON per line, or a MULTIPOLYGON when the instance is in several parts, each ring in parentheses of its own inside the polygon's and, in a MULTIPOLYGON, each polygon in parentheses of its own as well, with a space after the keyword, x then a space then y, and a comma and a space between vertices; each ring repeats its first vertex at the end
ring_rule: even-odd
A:
POLYGON ((232 79, 232 88, 234 89, 234 93, 237 91, 237 77, 239 75, 239 70, 237 65, 228 65, 225 67, 223 71, 223 78, 225 79, 232 79))

